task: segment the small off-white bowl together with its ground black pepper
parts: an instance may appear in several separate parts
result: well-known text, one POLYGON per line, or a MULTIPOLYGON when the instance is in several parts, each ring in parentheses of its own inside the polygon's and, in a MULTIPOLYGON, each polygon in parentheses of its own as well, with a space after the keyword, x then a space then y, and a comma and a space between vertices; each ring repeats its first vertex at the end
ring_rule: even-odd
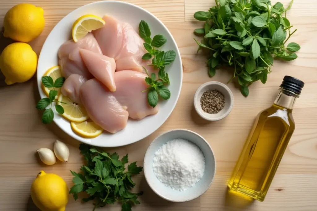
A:
POLYGON ((208 121, 226 117, 232 110, 233 95, 228 86, 217 81, 201 85, 194 96, 194 106, 199 116, 208 121))

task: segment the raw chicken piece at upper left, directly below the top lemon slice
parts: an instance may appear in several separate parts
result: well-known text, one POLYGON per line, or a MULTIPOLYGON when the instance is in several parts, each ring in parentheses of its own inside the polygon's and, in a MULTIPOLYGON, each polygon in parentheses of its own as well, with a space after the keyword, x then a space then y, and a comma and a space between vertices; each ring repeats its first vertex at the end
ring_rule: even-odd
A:
POLYGON ((58 50, 59 64, 61 66, 62 75, 65 78, 68 78, 71 74, 79 74, 88 79, 93 78, 81 59, 79 49, 86 49, 102 54, 97 40, 91 33, 77 42, 73 40, 66 41, 58 50))

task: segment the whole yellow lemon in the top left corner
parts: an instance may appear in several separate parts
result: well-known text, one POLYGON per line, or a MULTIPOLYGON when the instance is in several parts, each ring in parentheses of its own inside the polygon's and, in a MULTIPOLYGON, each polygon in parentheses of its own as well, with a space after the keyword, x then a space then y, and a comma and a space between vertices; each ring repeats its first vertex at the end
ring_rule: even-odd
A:
POLYGON ((3 20, 4 37, 29 42, 44 29, 44 11, 33 4, 21 3, 9 9, 3 20))

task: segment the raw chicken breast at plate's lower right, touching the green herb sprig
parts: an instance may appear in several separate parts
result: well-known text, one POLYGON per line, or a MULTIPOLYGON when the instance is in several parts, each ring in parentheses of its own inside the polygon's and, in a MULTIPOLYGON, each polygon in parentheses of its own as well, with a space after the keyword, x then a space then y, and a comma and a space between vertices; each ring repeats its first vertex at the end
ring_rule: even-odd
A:
POLYGON ((122 106, 127 107, 129 117, 133 119, 140 120, 159 112, 159 106, 153 108, 147 102, 147 92, 141 92, 149 87, 145 82, 146 77, 146 74, 131 70, 114 73, 117 90, 113 95, 122 106))

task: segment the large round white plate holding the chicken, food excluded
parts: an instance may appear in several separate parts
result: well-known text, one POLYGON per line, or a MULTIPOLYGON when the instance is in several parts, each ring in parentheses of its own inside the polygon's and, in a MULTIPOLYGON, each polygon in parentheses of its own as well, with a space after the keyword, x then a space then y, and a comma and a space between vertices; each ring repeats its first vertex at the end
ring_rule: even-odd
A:
POLYGON ((37 86, 41 98, 46 97, 41 88, 41 77, 50 67, 58 65, 57 52, 59 47, 71 38, 71 28, 74 21, 82 15, 94 14, 97 16, 112 15, 123 22, 130 23, 138 31, 139 22, 145 20, 151 29, 152 36, 163 34, 167 38, 162 50, 174 50, 175 61, 166 68, 171 84, 171 98, 159 102, 159 113, 148 116, 140 121, 129 119, 127 126, 115 134, 102 133, 94 139, 85 139, 76 135, 69 121, 54 111, 54 122, 71 137, 94 146, 115 147, 124 146, 139 141, 157 130, 173 111, 182 86, 183 69, 177 44, 165 25, 150 12, 136 5, 119 1, 100 1, 82 6, 65 16, 51 31, 42 47, 37 66, 37 86))

